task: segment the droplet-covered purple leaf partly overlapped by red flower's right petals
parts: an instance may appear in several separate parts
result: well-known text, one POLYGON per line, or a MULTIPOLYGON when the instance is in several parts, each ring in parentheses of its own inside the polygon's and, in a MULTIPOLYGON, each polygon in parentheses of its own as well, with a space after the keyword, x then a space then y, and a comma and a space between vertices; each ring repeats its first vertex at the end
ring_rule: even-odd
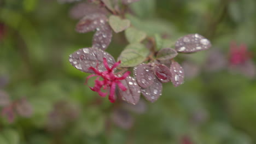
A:
POLYGON ((141 96, 141 91, 136 80, 131 76, 127 76, 125 80, 121 81, 121 83, 123 83, 123 85, 127 88, 126 91, 122 91, 119 88, 121 99, 127 101, 127 103, 136 105, 141 96))

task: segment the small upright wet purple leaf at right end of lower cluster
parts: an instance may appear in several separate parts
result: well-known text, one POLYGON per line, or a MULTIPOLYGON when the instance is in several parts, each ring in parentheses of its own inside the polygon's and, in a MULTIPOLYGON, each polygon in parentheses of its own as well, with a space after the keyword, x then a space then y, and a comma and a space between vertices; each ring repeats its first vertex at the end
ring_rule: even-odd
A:
POLYGON ((181 85, 184 82, 184 70, 177 62, 172 62, 170 66, 170 70, 172 73, 172 84, 174 87, 181 85))

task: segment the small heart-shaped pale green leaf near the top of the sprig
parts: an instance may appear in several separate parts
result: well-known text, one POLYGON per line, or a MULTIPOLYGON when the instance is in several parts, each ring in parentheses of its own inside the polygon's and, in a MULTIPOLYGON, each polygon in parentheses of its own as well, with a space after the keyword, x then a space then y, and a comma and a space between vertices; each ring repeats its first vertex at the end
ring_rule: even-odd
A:
POLYGON ((119 33, 130 27, 131 22, 127 19, 122 20, 119 16, 111 15, 109 17, 109 25, 112 27, 114 32, 119 33))

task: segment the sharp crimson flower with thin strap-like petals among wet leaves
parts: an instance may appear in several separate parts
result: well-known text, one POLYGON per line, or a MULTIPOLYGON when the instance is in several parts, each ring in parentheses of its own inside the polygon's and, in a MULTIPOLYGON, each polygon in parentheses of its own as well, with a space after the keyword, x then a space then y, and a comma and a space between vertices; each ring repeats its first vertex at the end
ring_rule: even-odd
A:
POLYGON ((107 63, 107 59, 103 58, 103 64, 104 67, 107 69, 106 71, 100 71, 94 67, 90 67, 90 70, 93 70, 95 74, 89 75, 86 79, 86 83, 87 81, 92 77, 92 76, 97 76, 96 80, 95 80, 95 86, 94 87, 90 87, 90 89, 94 92, 97 92, 101 97, 106 97, 106 95, 108 94, 107 92, 102 92, 101 88, 103 87, 103 89, 109 89, 109 97, 108 99, 110 100, 111 103, 114 103, 116 100, 115 97, 115 87, 116 85, 119 86, 119 88, 122 91, 126 91, 126 87, 121 83, 121 80, 124 80, 127 76, 130 75, 130 71, 126 71, 126 73, 121 76, 120 74, 114 74, 114 69, 118 67, 118 65, 121 63, 121 61, 115 63, 112 68, 109 68, 108 63, 107 63), (100 78, 102 78, 103 80, 100 81, 100 78))

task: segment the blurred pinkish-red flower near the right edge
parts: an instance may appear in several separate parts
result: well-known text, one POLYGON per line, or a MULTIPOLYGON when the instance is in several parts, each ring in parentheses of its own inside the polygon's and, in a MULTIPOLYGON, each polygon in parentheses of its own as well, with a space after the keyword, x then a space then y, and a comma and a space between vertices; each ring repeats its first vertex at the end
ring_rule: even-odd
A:
POLYGON ((246 44, 236 45, 234 41, 230 43, 230 59, 231 65, 244 64, 250 58, 246 44))

